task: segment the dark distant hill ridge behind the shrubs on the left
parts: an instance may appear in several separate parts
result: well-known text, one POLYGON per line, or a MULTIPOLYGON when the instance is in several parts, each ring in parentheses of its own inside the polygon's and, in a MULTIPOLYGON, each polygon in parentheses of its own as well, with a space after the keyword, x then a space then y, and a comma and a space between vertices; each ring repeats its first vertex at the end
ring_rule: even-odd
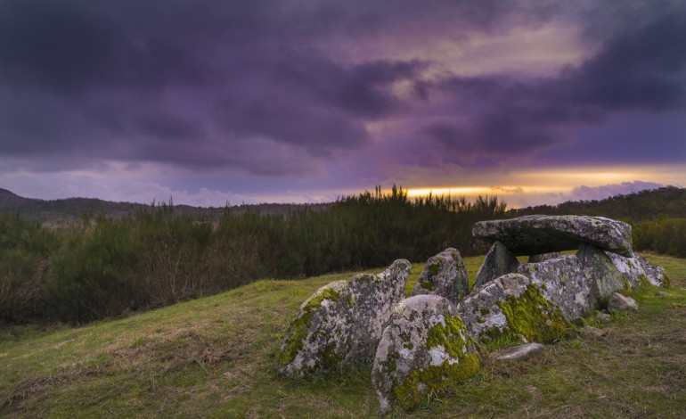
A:
MULTIPOLYGON (((259 211, 261 214, 288 216, 298 209, 325 209, 325 204, 264 203, 233 206, 233 213, 259 211)), ((24 198, 0 188, 0 212, 19 214, 21 218, 34 219, 45 226, 69 226, 77 223, 84 214, 104 215, 107 218, 133 218, 138 211, 150 209, 151 205, 135 202, 102 201, 95 198, 69 198, 63 200, 39 200, 24 198)), ((203 208, 190 205, 174 205, 174 212, 193 218, 216 221, 224 216, 225 208, 203 208)))

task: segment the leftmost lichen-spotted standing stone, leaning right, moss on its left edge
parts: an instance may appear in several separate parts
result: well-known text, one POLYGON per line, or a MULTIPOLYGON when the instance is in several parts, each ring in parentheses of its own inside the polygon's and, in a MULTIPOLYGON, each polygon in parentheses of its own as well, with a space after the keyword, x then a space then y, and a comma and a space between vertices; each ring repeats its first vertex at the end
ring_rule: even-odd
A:
POLYGON ((404 298, 410 268, 398 259, 379 275, 355 275, 314 292, 290 323, 277 370, 301 377, 371 365, 393 308, 404 298))

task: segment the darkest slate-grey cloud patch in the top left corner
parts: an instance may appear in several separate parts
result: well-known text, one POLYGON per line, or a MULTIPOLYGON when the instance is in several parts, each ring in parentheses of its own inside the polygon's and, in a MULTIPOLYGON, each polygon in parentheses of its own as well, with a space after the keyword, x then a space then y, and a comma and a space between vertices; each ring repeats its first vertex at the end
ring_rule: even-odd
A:
POLYGON ((136 38, 125 29, 125 21, 86 2, 3 2, 0 74, 15 85, 58 94, 162 88, 206 77, 192 55, 184 57, 191 51, 182 45, 155 34, 136 38))

